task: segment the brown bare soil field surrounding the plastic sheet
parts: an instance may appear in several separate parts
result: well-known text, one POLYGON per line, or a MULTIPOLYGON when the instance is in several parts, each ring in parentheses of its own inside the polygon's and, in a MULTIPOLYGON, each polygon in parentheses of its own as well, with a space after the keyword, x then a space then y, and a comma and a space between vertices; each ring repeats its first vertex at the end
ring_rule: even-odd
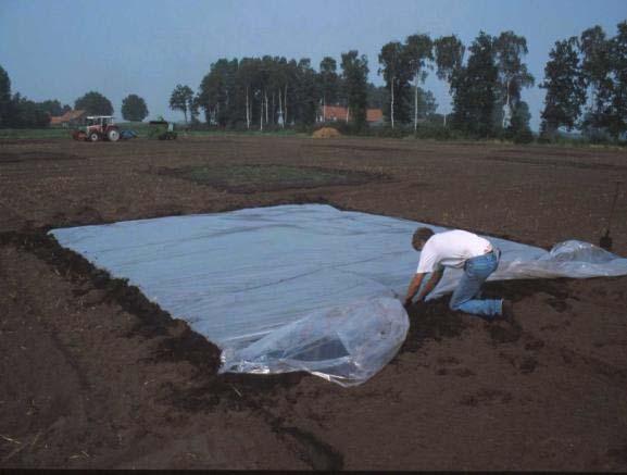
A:
MULTIPOLYGON (((627 153, 604 149, 0 142, 0 467, 627 471, 625 277, 489 285, 514 300, 514 324, 417 304, 397 358, 344 389, 216 375, 215 346, 46 234, 318 202, 597 243, 617 179, 627 153)), ((612 237, 627 255, 625 186, 612 237)))

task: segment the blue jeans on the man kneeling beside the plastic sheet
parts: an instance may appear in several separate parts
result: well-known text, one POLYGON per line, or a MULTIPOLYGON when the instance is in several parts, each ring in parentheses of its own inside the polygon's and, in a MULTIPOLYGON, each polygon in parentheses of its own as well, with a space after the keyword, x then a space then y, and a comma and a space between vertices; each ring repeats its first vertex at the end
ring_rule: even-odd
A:
POLYGON ((479 300, 481 285, 499 266, 501 252, 498 249, 484 255, 468 259, 464 264, 464 275, 451 297, 451 310, 460 310, 491 320, 503 313, 502 300, 479 300))

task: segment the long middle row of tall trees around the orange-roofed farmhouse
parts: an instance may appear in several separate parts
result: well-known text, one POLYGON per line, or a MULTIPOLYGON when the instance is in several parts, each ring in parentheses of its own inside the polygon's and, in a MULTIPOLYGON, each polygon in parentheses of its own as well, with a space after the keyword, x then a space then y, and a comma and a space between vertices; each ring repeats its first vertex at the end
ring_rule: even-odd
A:
POLYGON ((339 71, 330 57, 321 61, 318 71, 309 59, 221 59, 211 65, 197 95, 189 86, 177 85, 170 105, 186 121, 188 114, 198 121, 202 110, 209 124, 261 130, 312 125, 326 118, 329 104, 346 107, 348 116, 342 118, 361 128, 367 107, 381 107, 392 128, 413 124, 415 130, 418 122, 435 113, 435 98, 421 85, 428 71, 437 68, 453 95, 453 126, 476 136, 507 127, 528 129, 529 112, 521 91, 534 84, 534 77, 523 62, 525 38, 512 32, 499 37, 480 33, 469 51, 464 64, 465 47, 455 36, 432 40, 416 34, 404 42, 389 42, 378 58, 386 84, 378 88, 367 82, 367 59, 356 50, 341 54, 339 71))

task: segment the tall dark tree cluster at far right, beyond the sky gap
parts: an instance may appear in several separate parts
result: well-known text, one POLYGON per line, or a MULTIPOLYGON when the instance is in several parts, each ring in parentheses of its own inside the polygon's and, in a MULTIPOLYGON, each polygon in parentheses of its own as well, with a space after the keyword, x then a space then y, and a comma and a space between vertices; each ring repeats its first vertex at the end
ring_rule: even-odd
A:
POLYGON ((556 41, 544 67, 541 134, 578 128, 593 139, 627 132, 627 22, 609 38, 600 26, 556 41))

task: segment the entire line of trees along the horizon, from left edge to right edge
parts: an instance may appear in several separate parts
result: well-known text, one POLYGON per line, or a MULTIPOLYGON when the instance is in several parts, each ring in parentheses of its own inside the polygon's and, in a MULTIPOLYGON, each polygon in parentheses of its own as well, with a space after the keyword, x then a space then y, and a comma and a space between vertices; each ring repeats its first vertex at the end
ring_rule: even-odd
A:
MULTIPOLYGON (((181 111, 186 122, 199 122, 202 111, 208 124, 261 130, 313 125, 328 118, 328 105, 346 107, 342 118, 361 129, 366 109, 381 108, 391 128, 413 126, 416 132, 425 117, 435 116, 435 98, 421 87, 435 71, 452 98, 450 120, 441 117, 447 128, 469 137, 532 138, 529 108, 522 99, 523 90, 535 84, 524 61, 527 53, 526 38, 514 32, 499 36, 480 32, 467 48, 455 35, 431 39, 415 34, 381 48, 381 87, 367 82, 367 59, 356 50, 342 53, 339 64, 324 58, 317 71, 309 59, 220 59, 211 64, 198 92, 177 85, 170 107, 181 111)), ((627 22, 618 24, 614 37, 594 26, 579 37, 556 41, 540 87, 547 90, 541 113, 544 137, 563 128, 620 137, 627 132, 627 22)), ((96 91, 74 105, 90 114, 113 113, 111 102, 96 91)), ((55 100, 33 102, 18 92, 11 95, 11 82, 0 67, 0 127, 46 125, 50 115, 68 109, 55 100)), ((122 115, 142 121, 148 115, 146 101, 126 97, 122 115)))

